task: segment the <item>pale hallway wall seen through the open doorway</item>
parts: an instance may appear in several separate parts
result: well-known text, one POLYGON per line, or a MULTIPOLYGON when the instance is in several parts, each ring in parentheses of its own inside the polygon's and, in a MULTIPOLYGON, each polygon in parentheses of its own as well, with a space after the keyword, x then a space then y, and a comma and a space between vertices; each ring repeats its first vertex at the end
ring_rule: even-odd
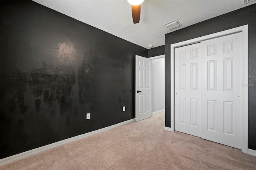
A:
POLYGON ((164 109, 164 58, 152 59, 152 112, 164 109))

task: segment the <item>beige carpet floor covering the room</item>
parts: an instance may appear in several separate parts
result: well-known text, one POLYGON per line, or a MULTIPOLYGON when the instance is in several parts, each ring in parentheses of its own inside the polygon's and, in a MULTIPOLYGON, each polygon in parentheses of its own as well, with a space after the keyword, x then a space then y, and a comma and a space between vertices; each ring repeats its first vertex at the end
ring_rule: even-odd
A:
POLYGON ((164 112, 12 162, 1 170, 256 170, 256 157, 164 130, 164 112))

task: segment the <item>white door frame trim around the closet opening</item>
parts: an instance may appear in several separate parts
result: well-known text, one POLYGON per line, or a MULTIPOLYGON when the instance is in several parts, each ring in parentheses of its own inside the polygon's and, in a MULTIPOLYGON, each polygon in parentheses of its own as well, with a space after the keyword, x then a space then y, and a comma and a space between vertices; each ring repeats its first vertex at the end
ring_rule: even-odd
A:
POLYGON ((202 36, 199 38, 194 38, 191 40, 186 40, 183 42, 178 42, 171 44, 171 127, 165 128, 169 131, 174 132, 174 49, 177 47, 190 45, 193 43, 198 43, 204 40, 209 40, 213 38, 218 38, 221 36, 227 36, 229 34, 235 34, 242 32, 242 152, 248 154, 248 25, 232 28, 230 30, 225 30, 222 32, 217 32, 207 36, 202 36))

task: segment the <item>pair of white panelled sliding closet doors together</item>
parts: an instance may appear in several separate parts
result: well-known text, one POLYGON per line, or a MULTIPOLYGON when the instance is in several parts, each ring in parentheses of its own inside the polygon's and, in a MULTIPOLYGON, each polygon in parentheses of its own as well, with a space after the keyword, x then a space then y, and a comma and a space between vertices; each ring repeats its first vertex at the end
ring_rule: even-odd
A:
POLYGON ((175 49, 175 130, 241 149, 242 33, 195 45, 175 49))

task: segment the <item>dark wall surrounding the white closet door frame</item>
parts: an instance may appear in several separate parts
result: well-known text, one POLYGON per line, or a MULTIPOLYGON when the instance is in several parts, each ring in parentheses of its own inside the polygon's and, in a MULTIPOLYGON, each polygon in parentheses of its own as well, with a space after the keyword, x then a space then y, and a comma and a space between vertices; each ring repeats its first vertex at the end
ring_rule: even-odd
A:
POLYGON ((165 35, 165 126, 170 120, 170 45, 248 24, 248 148, 256 150, 256 4, 165 35))

